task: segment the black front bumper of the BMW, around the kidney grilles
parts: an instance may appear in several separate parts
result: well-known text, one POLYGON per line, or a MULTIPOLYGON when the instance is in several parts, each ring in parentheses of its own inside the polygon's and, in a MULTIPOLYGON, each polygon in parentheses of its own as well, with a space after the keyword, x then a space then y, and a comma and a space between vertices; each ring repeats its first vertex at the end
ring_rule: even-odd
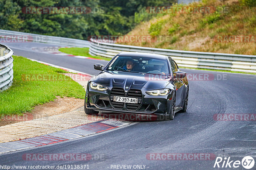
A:
MULTIPOLYGON (((100 91, 87 86, 85 106, 88 109, 101 112, 157 115, 167 115, 167 113, 169 113, 171 109, 172 91, 168 95, 152 96, 146 94, 148 89, 142 88, 136 90, 141 91, 141 100, 139 99, 140 103, 138 103, 138 107, 131 109, 131 107, 128 106, 129 104, 127 105, 127 103, 123 103, 123 107, 117 109, 113 106, 113 99, 111 100, 111 89, 100 91)), ((124 96, 127 96, 126 90, 124 90, 124 96)))

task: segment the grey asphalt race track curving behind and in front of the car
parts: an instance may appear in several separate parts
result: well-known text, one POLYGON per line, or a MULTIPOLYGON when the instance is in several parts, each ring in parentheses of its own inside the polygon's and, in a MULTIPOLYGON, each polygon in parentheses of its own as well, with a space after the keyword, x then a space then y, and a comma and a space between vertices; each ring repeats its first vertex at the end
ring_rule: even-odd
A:
MULTIPOLYGON (((6 43, 6 45, 12 48, 15 55, 89 74, 97 73, 92 69, 94 63, 107 63, 31 50, 32 46, 50 46, 48 44, 6 43)), ((89 169, 95 170, 111 169, 111 165, 145 165, 145 169, 228 169, 213 168, 216 158, 148 160, 146 157, 148 153, 213 153, 216 157, 220 156, 223 159, 230 157, 230 160, 234 161, 241 161, 244 156, 252 156, 256 160, 256 121, 216 121, 213 118, 214 114, 255 114, 256 75, 181 70, 192 75, 214 75, 215 80, 190 80, 188 111, 175 114, 174 120, 142 121, 97 135, 3 154, 0 156, 0 165, 79 164, 89 165, 89 169), (22 155, 26 153, 90 153, 102 154, 102 158, 88 161, 28 161, 22 159, 22 155)), ((220 166, 222 163, 223 161, 220 166)), ((256 165, 252 169, 255 167, 256 165)), ((240 165, 238 168, 229 169, 244 168, 240 165)))

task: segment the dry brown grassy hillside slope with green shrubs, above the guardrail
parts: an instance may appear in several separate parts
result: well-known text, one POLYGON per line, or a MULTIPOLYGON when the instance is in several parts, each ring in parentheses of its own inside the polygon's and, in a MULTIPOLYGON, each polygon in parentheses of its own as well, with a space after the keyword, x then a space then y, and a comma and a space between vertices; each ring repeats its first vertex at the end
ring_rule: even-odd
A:
POLYGON ((254 0, 203 0, 200 3, 185 6, 206 6, 211 9, 214 6, 216 10, 211 13, 176 12, 159 15, 150 21, 141 22, 127 34, 150 35, 158 41, 120 44, 256 55, 256 3, 254 0), (230 42, 235 41, 232 35, 236 35, 242 42, 239 40, 230 42), (249 41, 244 39, 244 35, 250 35, 249 41), (159 41, 160 38, 164 41, 159 41))

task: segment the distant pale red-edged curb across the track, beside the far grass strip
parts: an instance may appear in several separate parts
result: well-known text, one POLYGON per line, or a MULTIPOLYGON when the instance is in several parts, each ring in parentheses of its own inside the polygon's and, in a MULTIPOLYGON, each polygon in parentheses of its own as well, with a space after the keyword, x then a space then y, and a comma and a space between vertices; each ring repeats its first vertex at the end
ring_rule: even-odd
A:
POLYGON ((81 55, 72 55, 72 54, 67 54, 59 51, 59 48, 68 48, 67 46, 46 46, 46 47, 33 47, 32 50, 40 51, 43 53, 48 53, 48 54, 54 54, 54 55, 65 55, 65 56, 70 56, 70 57, 75 57, 75 58, 80 58, 80 59, 93 59, 93 60, 101 60, 101 59, 95 59, 92 57, 85 57, 81 55))

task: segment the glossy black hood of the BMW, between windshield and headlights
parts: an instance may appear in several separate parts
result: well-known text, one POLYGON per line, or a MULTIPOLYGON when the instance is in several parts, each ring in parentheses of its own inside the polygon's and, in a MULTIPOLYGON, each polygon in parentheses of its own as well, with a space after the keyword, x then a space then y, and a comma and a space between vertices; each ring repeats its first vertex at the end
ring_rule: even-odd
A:
POLYGON ((170 77, 124 71, 102 71, 99 75, 93 77, 91 81, 107 87, 164 89, 170 83, 170 77))

